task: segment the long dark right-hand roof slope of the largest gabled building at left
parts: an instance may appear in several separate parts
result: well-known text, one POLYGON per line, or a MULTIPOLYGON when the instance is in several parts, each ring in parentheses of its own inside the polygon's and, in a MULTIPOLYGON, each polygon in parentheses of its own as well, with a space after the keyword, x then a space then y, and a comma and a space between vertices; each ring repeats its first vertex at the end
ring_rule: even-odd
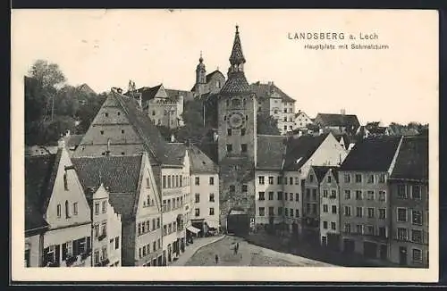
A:
POLYGON ((151 164, 164 163, 166 142, 148 114, 139 109, 137 100, 120 94, 114 94, 114 97, 121 104, 122 110, 127 114, 131 125, 143 140, 151 164))

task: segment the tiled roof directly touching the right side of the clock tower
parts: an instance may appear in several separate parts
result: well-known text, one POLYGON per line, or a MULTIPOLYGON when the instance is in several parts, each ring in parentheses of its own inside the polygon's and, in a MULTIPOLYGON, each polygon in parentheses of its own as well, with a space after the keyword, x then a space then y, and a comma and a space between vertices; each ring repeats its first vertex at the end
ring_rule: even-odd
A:
POLYGON ((257 170, 281 170, 285 154, 283 136, 257 136, 257 170))

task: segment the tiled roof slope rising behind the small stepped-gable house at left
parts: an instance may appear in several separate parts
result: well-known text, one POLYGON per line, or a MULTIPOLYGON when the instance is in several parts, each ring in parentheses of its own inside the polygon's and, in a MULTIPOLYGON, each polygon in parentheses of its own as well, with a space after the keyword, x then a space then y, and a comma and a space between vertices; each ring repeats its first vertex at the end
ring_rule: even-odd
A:
POLYGON ((80 157, 72 158, 72 163, 88 199, 93 195, 89 189, 96 189, 103 183, 115 211, 122 214, 123 218, 130 218, 135 214, 138 203, 142 156, 80 157))

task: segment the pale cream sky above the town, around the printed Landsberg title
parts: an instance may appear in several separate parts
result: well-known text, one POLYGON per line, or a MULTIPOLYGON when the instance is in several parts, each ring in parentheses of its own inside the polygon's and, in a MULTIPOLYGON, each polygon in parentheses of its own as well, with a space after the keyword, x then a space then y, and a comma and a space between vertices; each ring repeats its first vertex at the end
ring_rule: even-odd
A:
POLYGON ((207 72, 218 68, 226 76, 236 24, 249 83, 274 81, 311 118, 342 109, 362 124, 437 116, 438 22, 431 11, 13 10, 12 75, 22 79, 44 59, 57 63, 69 84, 87 83, 97 93, 125 89, 130 79, 137 87, 190 90, 201 51, 207 72), (346 38, 289 39, 295 32, 346 38), (360 33, 378 39, 360 40, 360 33))

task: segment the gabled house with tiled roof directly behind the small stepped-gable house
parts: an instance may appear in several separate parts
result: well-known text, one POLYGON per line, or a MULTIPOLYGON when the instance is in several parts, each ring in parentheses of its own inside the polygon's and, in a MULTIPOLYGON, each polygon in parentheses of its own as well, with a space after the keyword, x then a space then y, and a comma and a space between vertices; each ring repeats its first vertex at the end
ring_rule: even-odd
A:
MULTIPOLYGON (((79 172, 82 187, 96 189, 97 185, 104 185, 114 212, 121 216, 122 238, 119 247, 124 245, 121 248, 121 265, 162 265, 160 195, 148 154, 80 157, 73 158, 73 163, 79 172)), ((104 196, 104 193, 100 196, 104 196)), ((102 198, 103 201, 104 199, 102 198)), ((95 224, 93 234, 98 242, 104 241, 104 245, 110 243, 112 246, 110 239, 115 239, 119 232, 119 228, 116 227, 116 220, 119 216, 109 210, 105 210, 107 215, 103 214, 102 205, 102 202, 98 206, 96 203, 94 204, 94 214, 103 215, 104 220, 105 216, 110 216, 111 220, 115 220, 115 227, 109 225, 110 222, 107 223, 109 230, 106 230, 106 234, 110 233, 110 237, 106 237, 107 239, 105 237, 99 239, 99 236, 104 236, 101 229, 104 224, 95 224), (97 207, 100 208, 97 209, 97 207)), ((101 220, 101 223, 104 223, 104 220, 101 220)), ((114 241, 113 244, 116 242, 114 241)), ((111 251, 109 251, 111 256, 107 259, 112 263, 112 255, 116 254, 116 248, 111 251), (111 251, 113 252, 111 253, 111 251)), ((100 252, 102 252, 102 248, 100 252)), ((107 259, 100 259, 99 262, 104 262, 107 259)))

